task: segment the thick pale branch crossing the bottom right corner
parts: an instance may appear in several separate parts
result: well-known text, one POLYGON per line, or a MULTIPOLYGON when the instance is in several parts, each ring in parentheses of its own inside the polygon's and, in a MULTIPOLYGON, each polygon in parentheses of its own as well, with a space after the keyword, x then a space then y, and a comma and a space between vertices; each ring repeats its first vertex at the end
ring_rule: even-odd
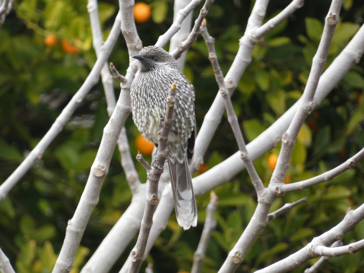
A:
MULTIPOLYGON (((341 221, 335 227, 323 233, 322 235, 313 238, 313 240, 304 248, 298 250, 296 253, 293 253, 290 256, 270 266, 267 266, 264 269, 257 270, 256 273, 287 272, 294 268, 298 268, 306 261, 314 257, 321 256, 320 252, 317 252, 317 249, 323 250, 321 246, 329 246, 333 244, 333 242, 341 240, 345 234, 347 234, 351 229, 353 229, 355 225, 357 225, 357 223, 359 223, 363 219, 364 219, 364 204, 362 204, 355 210, 348 211, 343 221, 341 221)), ((357 245, 355 245, 355 248, 353 248, 353 250, 363 248, 363 240, 356 242, 354 244, 357 245)), ((348 246, 344 246, 343 248, 349 250, 348 246)), ((339 247, 338 249, 341 250, 341 248, 342 247, 339 247)), ((332 250, 333 249, 331 249, 331 251, 332 250)), ((325 254, 330 254, 330 253, 325 252, 325 254)))

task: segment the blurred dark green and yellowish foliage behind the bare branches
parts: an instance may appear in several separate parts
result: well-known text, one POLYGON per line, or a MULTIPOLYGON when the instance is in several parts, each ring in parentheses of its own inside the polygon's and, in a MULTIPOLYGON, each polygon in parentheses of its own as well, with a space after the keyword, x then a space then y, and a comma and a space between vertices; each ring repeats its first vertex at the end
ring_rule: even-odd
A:
MULTIPOLYGON (((265 21, 290 1, 270 2, 265 21)), ((344 0, 325 68, 363 23, 364 7, 359 2, 344 0)), ((145 46, 154 44, 173 21, 173 1, 147 0, 147 3, 152 8, 152 16, 146 23, 137 24, 145 46)), ((254 48, 252 63, 233 95, 234 109, 247 141, 256 138, 300 98, 329 4, 329 1, 306 0, 304 7, 268 33, 254 48)), ((246 0, 223 4, 216 1, 207 15, 209 32, 216 39, 217 56, 225 75, 238 51, 238 40, 244 34, 252 6, 253 3, 246 0)), ((195 10, 194 17, 201 7, 202 4, 195 10)), ((99 3, 104 39, 110 32, 117 10, 115 1, 99 3)), ((95 63, 87 1, 15 1, 0 27, 0 41, 0 175, 4 181, 48 131, 95 63), (44 39, 50 35, 55 35, 56 40, 52 37, 46 42, 44 39), (68 50, 62 41, 70 45, 68 50)), ((120 73, 125 73, 128 52, 122 36, 110 61, 120 73)), ((364 146, 363 64, 361 61, 355 65, 309 115, 294 145, 288 170, 292 182, 324 173, 364 146)), ((200 126, 218 91, 201 37, 187 54, 184 72, 197 91, 195 107, 200 126)), ((115 90, 118 90, 116 81, 115 90)), ((103 88, 98 83, 44 152, 43 158, 0 202, 1 248, 17 272, 51 272, 63 243, 67 221, 84 189, 107 120, 103 88)), ((136 155, 134 141, 138 131, 131 118, 126 127, 131 153, 136 155)), ((280 145, 254 162, 264 185, 268 185, 272 175, 267 159, 272 153, 279 154, 279 150, 280 145)), ((236 151, 237 145, 225 115, 206 153, 207 167, 217 165, 236 151)), ((150 161, 150 157, 146 158, 150 161)), ((145 181, 145 170, 140 164, 136 167, 141 180, 145 181)), ((277 198, 272 211, 305 196, 308 201, 269 222, 237 272, 251 272, 278 261, 335 226, 348 207, 355 208, 363 203, 363 174, 364 164, 360 162, 355 169, 332 181, 277 198)), ((202 272, 206 273, 217 272, 257 205, 246 172, 219 186, 215 192, 219 197, 218 226, 203 265, 202 272)), ((79 272, 130 200, 120 156, 115 152, 72 273, 79 272)), ((186 232, 172 215, 167 229, 147 258, 147 262, 154 264, 154 272, 190 270, 208 202, 209 194, 197 199, 199 223, 186 232)), ((363 237, 364 223, 361 222, 344 237, 344 243, 363 237)), ((134 243, 135 238, 111 272, 119 271, 134 243)), ((292 272, 302 272, 316 260, 312 259, 292 272)), ((364 252, 360 251, 329 259, 321 272, 361 272, 363 262, 364 252)))

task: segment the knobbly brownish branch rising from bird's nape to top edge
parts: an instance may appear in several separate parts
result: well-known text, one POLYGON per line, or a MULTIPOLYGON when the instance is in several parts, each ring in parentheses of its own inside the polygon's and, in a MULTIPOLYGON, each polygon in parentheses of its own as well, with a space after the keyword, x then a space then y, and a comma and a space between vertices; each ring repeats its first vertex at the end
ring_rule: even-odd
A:
POLYGON ((178 45, 178 47, 171 52, 171 55, 175 59, 178 59, 179 57, 181 57, 182 52, 187 50, 187 48, 189 48, 191 46, 191 44, 193 44, 196 41, 197 35, 200 33, 200 27, 201 27, 202 20, 205 18, 207 11, 209 10, 212 3, 214 3, 214 0, 205 1, 205 4, 203 5, 197 19, 195 20, 195 25, 193 26, 191 33, 188 35, 188 37, 185 41, 180 43, 178 45))

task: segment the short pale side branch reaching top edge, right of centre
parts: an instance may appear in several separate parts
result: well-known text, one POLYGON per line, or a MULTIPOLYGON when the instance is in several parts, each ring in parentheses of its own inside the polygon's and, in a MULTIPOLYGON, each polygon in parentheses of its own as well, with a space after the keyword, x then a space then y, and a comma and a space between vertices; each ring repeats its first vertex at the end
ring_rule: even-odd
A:
POLYGON ((277 27, 282 21, 287 19, 294 11, 303 6, 304 0, 293 0, 284 10, 282 10, 278 15, 274 16, 268 22, 266 22, 261 27, 255 29, 252 33, 252 39, 258 41, 264 35, 266 35, 273 28, 277 27))

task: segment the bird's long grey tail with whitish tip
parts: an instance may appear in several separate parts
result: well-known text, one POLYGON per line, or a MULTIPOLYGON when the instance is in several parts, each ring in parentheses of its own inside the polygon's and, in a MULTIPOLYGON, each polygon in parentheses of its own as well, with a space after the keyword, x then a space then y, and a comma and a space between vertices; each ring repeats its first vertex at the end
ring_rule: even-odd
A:
POLYGON ((182 163, 168 161, 169 177, 173 192, 174 209, 178 225, 183 229, 197 224, 197 207, 192 188, 192 177, 187 157, 182 163))

